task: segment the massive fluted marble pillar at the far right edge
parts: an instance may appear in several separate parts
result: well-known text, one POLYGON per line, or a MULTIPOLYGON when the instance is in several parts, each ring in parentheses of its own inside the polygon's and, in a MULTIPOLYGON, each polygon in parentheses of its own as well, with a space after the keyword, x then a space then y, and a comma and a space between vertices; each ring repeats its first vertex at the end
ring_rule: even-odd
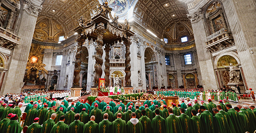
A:
POLYGON ((222 4, 243 68, 244 83, 253 88, 256 86, 256 2, 223 0, 222 4))

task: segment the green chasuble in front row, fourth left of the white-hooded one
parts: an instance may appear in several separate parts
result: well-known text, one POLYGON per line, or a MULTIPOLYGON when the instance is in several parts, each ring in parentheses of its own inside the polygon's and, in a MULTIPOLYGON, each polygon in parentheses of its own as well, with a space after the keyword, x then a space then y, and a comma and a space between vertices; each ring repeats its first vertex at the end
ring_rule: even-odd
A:
POLYGON ((84 123, 80 120, 74 120, 67 129, 67 133, 83 133, 83 131, 84 123))

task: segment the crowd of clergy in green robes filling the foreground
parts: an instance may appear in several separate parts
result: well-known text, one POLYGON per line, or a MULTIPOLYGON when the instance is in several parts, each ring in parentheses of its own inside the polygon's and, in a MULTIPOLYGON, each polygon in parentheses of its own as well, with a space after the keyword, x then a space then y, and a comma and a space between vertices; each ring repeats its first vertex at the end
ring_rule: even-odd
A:
MULTIPOLYGON (((43 98, 30 101, 26 108, 1 100, 0 133, 254 133, 256 108, 253 105, 232 106, 220 99, 216 105, 211 98, 200 101, 193 91, 162 90, 157 97, 126 105, 100 101, 90 105, 79 100, 71 105, 63 101, 43 98), (185 93, 186 92, 186 93, 185 93), (181 103, 165 101, 166 95, 180 95, 181 103), (158 101, 157 101, 158 100, 158 101), (25 108, 24 111, 22 111, 25 108), (22 115, 23 114, 23 115, 22 115)), ((233 102, 233 101, 232 101, 233 102)))

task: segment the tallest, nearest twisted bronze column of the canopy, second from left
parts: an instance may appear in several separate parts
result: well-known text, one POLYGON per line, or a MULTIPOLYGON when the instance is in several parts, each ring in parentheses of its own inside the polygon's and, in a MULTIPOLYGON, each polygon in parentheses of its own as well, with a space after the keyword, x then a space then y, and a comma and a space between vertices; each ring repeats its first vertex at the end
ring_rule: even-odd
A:
POLYGON ((101 66, 103 64, 103 59, 102 59, 102 55, 103 55, 103 33, 105 33, 106 31, 99 27, 96 30, 97 33, 97 46, 95 48, 96 50, 96 56, 95 56, 95 61, 96 63, 94 64, 94 69, 95 69, 95 75, 94 75, 94 86, 98 86, 99 85, 99 78, 101 78, 102 75, 102 69, 101 66))

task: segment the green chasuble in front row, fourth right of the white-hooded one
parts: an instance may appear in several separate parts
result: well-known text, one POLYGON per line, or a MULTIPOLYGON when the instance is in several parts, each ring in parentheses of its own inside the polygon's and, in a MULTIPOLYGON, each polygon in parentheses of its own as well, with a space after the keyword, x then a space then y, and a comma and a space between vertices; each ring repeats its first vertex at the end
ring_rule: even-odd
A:
POLYGON ((192 127, 190 124, 189 116, 187 114, 181 114, 179 120, 181 122, 183 133, 192 133, 192 127))

